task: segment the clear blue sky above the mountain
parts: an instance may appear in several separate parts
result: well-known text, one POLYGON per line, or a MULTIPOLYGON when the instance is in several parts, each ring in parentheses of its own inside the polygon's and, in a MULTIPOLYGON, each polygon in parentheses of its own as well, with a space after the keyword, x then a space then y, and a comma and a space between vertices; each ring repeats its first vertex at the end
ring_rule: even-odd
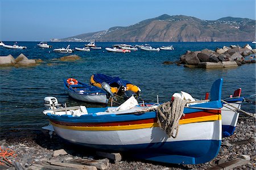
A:
POLYGON ((255 0, 0 0, 0 40, 49 41, 163 14, 255 19, 255 0))

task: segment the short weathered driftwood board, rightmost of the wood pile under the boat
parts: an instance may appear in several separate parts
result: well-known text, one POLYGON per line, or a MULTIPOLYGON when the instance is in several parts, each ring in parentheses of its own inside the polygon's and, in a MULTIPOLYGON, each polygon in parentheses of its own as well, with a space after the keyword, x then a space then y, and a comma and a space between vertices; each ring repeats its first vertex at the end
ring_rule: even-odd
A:
POLYGON ((80 163, 82 165, 92 165, 98 169, 105 170, 109 168, 109 159, 100 159, 100 160, 89 160, 89 159, 76 159, 72 162, 80 163))

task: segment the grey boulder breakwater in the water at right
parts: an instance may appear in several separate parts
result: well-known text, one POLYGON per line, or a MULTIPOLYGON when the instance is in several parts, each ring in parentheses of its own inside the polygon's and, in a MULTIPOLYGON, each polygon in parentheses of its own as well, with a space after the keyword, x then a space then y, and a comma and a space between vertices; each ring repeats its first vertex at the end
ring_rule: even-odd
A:
POLYGON ((204 49, 201 51, 187 51, 180 57, 180 64, 184 67, 199 67, 204 69, 237 67, 245 63, 255 63, 256 49, 249 44, 243 48, 236 45, 223 46, 215 51, 204 49), (253 54, 252 56, 250 56, 253 54))

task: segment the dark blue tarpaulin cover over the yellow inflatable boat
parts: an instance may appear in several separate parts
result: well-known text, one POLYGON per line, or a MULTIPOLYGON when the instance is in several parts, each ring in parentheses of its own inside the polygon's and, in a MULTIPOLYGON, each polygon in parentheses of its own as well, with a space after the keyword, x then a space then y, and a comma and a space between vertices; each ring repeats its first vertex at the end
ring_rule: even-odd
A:
POLYGON ((131 84, 129 81, 123 80, 118 76, 111 77, 105 74, 94 74, 93 79, 95 82, 98 82, 98 83, 106 82, 111 87, 126 86, 126 84, 131 84))

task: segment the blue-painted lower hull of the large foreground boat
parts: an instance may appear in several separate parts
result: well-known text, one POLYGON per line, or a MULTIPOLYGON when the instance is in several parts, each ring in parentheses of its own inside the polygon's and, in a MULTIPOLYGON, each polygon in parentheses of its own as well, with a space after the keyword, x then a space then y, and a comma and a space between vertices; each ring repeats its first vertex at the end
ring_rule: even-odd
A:
MULTIPOLYGON (((72 141, 69 141, 72 142, 72 141)), ((76 143, 76 142, 72 142, 76 143)), ((173 164, 200 164, 217 156, 221 141, 195 140, 179 142, 148 143, 139 145, 90 145, 76 143, 100 150, 129 152, 138 159, 173 164)))

